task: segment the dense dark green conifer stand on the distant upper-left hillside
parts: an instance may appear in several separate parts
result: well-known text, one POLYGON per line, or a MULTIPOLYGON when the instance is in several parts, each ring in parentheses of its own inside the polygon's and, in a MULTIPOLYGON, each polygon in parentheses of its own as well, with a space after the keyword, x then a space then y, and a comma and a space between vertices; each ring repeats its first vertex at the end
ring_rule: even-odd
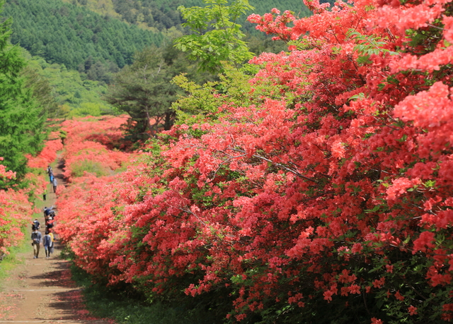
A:
POLYGON ((77 69, 88 57, 122 68, 137 50, 159 46, 159 32, 142 30, 59 0, 9 0, 3 16, 13 18, 11 42, 49 63, 77 69))

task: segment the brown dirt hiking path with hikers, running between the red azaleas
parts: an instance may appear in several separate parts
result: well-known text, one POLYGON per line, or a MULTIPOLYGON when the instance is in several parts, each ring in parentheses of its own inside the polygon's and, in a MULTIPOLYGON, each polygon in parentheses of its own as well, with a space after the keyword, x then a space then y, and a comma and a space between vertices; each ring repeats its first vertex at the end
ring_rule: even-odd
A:
MULTIPOLYGON (((62 164, 54 169, 54 174, 58 183, 64 184, 62 164)), ((47 185, 47 192, 46 206, 55 205, 57 196, 50 184, 47 185)), ((58 222, 58 210, 55 213, 58 222)), ((44 236, 44 215, 38 220, 44 236)), ((41 244, 39 258, 34 259, 30 234, 26 235, 30 241, 29 250, 18 256, 25 262, 0 283, 0 323, 113 323, 111 320, 93 318, 84 308, 81 289, 71 280, 69 261, 60 257, 62 246, 58 238, 50 258, 45 257, 45 249, 41 244)))

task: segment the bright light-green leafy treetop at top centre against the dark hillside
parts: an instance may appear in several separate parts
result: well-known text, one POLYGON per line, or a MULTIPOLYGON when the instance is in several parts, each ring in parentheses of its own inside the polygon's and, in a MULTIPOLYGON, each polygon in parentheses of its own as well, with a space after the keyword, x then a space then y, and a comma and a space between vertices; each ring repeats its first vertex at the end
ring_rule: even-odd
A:
POLYGON ((188 52, 190 59, 200 59, 202 71, 222 72, 224 61, 239 66, 253 54, 248 51, 241 25, 236 23, 239 17, 253 9, 248 0, 205 0, 205 7, 180 6, 183 26, 191 35, 176 40, 176 47, 188 52))

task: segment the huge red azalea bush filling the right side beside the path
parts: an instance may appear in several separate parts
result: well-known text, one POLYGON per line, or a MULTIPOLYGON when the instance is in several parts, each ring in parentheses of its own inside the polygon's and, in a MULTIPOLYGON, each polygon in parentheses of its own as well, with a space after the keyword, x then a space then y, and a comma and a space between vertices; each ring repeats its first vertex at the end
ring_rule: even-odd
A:
POLYGON ((451 320, 452 3, 306 4, 249 18, 290 52, 251 61, 244 104, 79 184, 59 232, 88 272, 231 320, 451 320))

